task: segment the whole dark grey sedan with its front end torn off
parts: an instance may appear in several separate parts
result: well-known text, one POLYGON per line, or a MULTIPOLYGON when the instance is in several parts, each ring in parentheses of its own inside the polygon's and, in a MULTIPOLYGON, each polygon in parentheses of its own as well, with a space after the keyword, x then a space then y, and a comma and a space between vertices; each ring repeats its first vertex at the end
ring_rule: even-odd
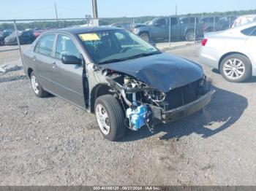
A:
MULTIPOLYGON (((64 28, 23 53, 34 93, 96 114, 106 139, 127 128, 154 130, 206 106, 214 94, 197 63, 159 51, 121 28, 64 28)), ((85 120, 86 122, 86 120, 85 120)))

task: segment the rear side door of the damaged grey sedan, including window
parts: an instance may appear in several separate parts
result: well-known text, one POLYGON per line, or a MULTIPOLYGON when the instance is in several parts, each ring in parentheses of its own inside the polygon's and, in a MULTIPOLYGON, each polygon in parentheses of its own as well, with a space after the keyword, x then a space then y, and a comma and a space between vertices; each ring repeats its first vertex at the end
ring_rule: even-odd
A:
POLYGON ((32 55, 32 62, 34 63, 34 72, 37 75, 39 83, 45 90, 54 93, 53 85, 53 43, 55 41, 55 34, 45 34, 39 39, 35 48, 34 55, 32 55))

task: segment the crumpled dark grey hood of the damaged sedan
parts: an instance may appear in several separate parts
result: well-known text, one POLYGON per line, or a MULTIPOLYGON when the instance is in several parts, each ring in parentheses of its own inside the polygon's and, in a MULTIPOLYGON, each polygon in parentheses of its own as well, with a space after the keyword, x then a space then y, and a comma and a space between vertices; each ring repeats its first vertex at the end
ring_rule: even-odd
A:
POLYGON ((105 67, 135 77, 165 93, 195 82, 204 75, 197 63, 167 53, 109 63, 105 67))

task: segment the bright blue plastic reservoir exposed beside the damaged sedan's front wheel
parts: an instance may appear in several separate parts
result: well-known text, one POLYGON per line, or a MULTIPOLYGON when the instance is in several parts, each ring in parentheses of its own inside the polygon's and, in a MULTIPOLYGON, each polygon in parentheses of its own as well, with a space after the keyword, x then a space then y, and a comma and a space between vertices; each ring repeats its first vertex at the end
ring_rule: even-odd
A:
POLYGON ((145 125, 146 112, 147 107, 144 105, 138 106, 136 109, 127 109, 127 117, 129 117, 133 130, 138 130, 145 125))

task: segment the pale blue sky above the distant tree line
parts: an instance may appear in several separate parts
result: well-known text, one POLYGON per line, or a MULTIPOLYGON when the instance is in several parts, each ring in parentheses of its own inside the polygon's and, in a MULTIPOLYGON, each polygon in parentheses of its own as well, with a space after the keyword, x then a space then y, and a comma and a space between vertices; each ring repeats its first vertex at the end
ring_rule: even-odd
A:
MULTIPOLYGON (((0 20, 92 15, 91 0, 1 0, 0 20)), ((138 17, 256 9, 256 0, 97 0, 99 17, 138 17)))

